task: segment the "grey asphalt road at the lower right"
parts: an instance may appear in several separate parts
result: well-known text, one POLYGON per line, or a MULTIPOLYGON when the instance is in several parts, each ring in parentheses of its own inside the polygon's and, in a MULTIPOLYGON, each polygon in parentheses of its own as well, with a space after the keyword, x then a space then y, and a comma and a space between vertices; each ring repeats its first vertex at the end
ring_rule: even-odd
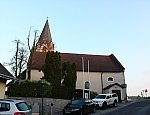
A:
POLYGON ((150 115, 150 100, 137 101, 120 108, 108 108, 108 110, 97 110, 90 115, 150 115))

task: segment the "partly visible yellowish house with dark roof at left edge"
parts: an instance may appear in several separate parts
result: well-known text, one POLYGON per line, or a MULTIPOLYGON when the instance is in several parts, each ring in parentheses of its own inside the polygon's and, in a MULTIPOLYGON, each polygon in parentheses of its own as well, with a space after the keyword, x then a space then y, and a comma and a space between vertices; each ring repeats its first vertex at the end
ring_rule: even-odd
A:
POLYGON ((0 99, 5 97, 7 80, 14 79, 13 75, 0 63, 0 99))

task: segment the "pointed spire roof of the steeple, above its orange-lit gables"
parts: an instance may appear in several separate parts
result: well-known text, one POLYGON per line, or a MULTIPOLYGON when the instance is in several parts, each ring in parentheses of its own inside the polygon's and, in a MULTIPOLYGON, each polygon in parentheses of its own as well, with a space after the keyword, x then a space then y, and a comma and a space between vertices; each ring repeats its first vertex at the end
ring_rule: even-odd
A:
POLYGON ((46 42, 46 43, 52 42, 48 19, 46 20, 46 23, 44 25, 44 28, 42 30, 42 33, 41 33, 39 41, 38 41, 38 43, 40 43, 40 44, 42 44, 44 42, 46 42))

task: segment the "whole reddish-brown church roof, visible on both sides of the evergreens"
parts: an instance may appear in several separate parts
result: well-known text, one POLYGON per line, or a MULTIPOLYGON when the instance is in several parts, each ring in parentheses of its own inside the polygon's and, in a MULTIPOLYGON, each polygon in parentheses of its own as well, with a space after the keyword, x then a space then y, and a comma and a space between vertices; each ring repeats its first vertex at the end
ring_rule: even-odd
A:
MULTIPOLYGON (((90 55, 90 54, 74 54, 74 53, 60 53, 61 62, 71 62, 76 64, 77 71, 83 71, 82 60, 84 60, 84 71, 90 72, 123 72, 125 68, 111 55, 90 55)), ((45 63, 46 52, 34 52, 32 57, 32 69, 41 69, 45 63)))

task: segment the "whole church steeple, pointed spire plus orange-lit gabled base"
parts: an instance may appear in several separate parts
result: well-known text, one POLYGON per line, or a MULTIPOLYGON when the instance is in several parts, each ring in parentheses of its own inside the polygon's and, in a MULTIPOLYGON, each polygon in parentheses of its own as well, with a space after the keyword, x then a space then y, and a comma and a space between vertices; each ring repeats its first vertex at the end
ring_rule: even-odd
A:
POLYGON ((40 52, 54 51, 54 44, 52 42, 48 19, 46 20, 42 33, 37 42, 36 51, 40 52))

